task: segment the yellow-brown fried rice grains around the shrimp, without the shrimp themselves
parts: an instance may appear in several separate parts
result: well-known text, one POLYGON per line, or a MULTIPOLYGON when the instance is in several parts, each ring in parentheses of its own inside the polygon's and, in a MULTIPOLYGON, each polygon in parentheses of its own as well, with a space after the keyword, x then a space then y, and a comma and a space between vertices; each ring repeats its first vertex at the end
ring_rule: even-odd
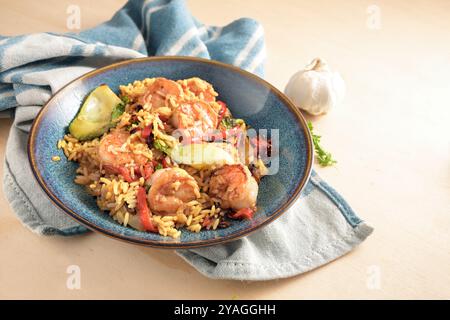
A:
MULTIPOLYGON (((171 135, 174 128, 166 121, 173 110, 182 102, 207 101, 214 110, 218 111, 221 108, 220 103, 215 100, 218 94, 209 83, 199 78, 192 78, 177 81, 182 89, 178 97, 161 92, 158 93, 158 97, 162 99, 161 102, 152 100, 153 103, 142 103, 148 88, 155 84, 156 79, 144 79, 120 87, 120 95, 128 97, 129 102, 123 114, 115 119, 114 125, 116 129, 127 130, 130 136, 122 146, 111 145, 108 146, 107 151, 111 155, 120 155, 120 152, 126 148, 133 156, 144 159, 143 162, 160 163, 162 159, 165 167, 178 167, 195 179, 199 191, 194 200, 180 206, 173 214, 154 213, 151 216, 152 223, 157 227, 160 235, 179 238, 182 228, 190 232, 200 232, 204 229, 216 230, 227 227, 229 209, 222 209, 220 199, 208 195, 209 181, 214 168, 194 168, 177 164, 167 159, 161 151, 162 147, 172 148, 179 142, 171 135), (152 129, 152 141, 149 143, 143 143, 140 136, 146 127, 152 129), (155 141, 160 144, 159 148, 155 147, 155 141)), ((146 98, 149 99, 148 96, 146 98)), ((148 180, 139 174, 144 172, 145 168, 134 161, 125 164, 131 179, 126 179, 120 173, 108 171, 99 156, 99 145, 108 134, 107 132, 101 137, 87 141, 80 141, 66 134, 58 141, 57 146, 62 149, 69 161, 79 164, 74 182, 85 186, 87 192, 96 198, 100 210, 107 212, 124 226, 143 230, 137 214, 137 192, 140 187, 148 188, 148 180)))

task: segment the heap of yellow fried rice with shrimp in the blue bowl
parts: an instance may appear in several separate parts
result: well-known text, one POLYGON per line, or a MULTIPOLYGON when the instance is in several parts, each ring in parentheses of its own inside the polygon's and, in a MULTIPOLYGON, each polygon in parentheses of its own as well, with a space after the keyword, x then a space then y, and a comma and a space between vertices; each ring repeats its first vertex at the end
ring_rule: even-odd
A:
MULTIPOLYGON (((242 218, 233 213, 244 206, 255 212, 255 190, 249 196, 250 202, 239 199, 245 205, 234 207, 220 193, 210 192, 216 170, 224 164, 195 166, 177 162, 167 151, 186 144, 188 139, 194 141, 195 134, 210 129, 214 129, 212 138, 201 137, 201 141, 215 143, 217 132, 245 132, 245 122, 235 121, 217 96, 214 88, 199 78, 135 81, 120 87, 124 110, 107 132, 84 140, 66 134, 58 141, 58 148, 69 161, 79 164, 74 182, 85 186, 99 209, 124 226, 173 238, 179 238, 183 228, 190 232, 225 228, 232 222, 230 217, 242 218), (183 131, 182 138, 173 134, 176 130, 183 131), (140 198, 139 192, 144 192, 140 190, 145 190, 145 200, 140 198), (146 210, 149 219, 143 221, 142 211, 146 210), (154 230, 149 229, 149 224, 154 230)), ((233 145, 233 141, 227 143, 233 145)), ((245 171, 243 179, 259 182, 265 168, 257 156, 246 158, 246 164, 242 162, 225 166, 240 166, 245 171)), ((231 189, 227 185, 220 190, 226 193, 231 189)), ((233 192, 242 194, 242 190, 233 192)))

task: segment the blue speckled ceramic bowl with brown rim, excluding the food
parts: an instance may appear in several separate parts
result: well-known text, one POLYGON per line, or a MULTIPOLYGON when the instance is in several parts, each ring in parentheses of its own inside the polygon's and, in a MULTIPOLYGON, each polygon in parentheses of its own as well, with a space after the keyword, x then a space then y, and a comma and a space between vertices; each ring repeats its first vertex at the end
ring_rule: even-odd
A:
POLYGON ((151 57, 123 61, 87 73, 57 92, 34 121, 28 155, 34 174, 50 199, 68 215, 92 230, 113 238, 160 248, 194 248, 237 239, 274 221, 297 199, 306 185, 312 165, 309 130, 294 105, 276 88, 239 68, 199 58, 151 57), (210 82, 235 117, 256 129, 279 129, 279 170, 264 177, 258 194, 258 211, 252 220, 233 221, 216 231, 191 233, 179 239, 123 227, 102 213, 95 199, 73 182, 77 163, 67 161, 56 147, 67 132, 84 97, 106 83, 118 92, 119 85, 153 77, 210 82), (61 161, 51 161, 58 155, 61 161))

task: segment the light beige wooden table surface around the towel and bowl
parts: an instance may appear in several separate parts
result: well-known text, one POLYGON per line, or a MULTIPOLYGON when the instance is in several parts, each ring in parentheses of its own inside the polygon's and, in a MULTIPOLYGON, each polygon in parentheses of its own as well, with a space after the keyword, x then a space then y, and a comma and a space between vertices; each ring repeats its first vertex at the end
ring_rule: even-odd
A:
MULTIPOLYGON (((92 27, 124 2, 0 0, 0 34, 65 32, 69 4, 80 5, 82 28, 92 27)), ((173 252, 95 233, 38 237, 16 220, 0 191, 0 298, 450 298, 450 2, 189 6, 207 24, 242 16, 261 21, 266 79, 280 89, 316 56, 341 72, 348 87, 343 105, 314 119, 339 163, 316 169, 375 232, 350 254, 301 276, 214 281, 173 252), (66 288, 69 265, 81 267, 80 290, 66 288)), ((2 156, 9 127, 0 120, 2 156)))

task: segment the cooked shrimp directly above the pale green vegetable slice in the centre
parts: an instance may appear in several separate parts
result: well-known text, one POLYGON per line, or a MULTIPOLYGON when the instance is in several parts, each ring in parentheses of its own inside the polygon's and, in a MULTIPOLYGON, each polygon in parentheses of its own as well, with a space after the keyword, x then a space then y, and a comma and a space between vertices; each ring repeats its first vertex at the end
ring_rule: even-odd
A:
POLYGON ((175 128, 187 129, 191 135, 204 134, 215 129, 219 115, 209 103, 203 101, 185 102, 177 107, 171 118, 175 128))

